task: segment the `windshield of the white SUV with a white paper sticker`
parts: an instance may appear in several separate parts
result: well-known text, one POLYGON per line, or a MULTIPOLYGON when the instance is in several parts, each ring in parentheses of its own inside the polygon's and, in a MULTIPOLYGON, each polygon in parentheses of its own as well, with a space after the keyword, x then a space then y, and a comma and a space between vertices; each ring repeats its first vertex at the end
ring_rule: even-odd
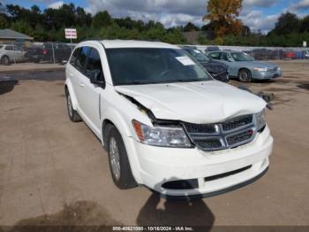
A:
POLYGON ((124 48, 106 53, 114 85, 212 80, 185 50, 124 48))

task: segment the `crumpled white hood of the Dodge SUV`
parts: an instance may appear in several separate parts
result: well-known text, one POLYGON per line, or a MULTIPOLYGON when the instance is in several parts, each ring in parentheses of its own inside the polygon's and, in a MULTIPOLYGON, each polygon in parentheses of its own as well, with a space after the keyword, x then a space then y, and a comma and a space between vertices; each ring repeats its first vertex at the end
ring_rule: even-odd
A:
POLYGON ((116 86, 160 120, 216 123, 262 111, 266 102, 247 91, 219 81, 116 86))

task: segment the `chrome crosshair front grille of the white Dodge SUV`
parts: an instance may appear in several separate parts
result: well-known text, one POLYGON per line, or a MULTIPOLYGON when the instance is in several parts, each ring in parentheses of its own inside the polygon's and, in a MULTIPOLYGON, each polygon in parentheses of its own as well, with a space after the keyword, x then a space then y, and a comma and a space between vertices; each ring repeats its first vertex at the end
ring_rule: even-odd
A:
POLYGON ((184 123, 192 143, 203 151, 219 151, 250 143, 256 134, 255 117, 240 116, 222 123, 184 123))

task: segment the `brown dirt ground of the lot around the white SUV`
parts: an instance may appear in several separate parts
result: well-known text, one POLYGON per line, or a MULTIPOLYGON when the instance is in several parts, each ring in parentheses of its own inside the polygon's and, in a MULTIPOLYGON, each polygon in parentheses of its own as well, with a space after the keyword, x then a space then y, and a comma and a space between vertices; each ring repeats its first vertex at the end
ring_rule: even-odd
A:
POLYGON ((0 225, 309 226, 309 62, 279 63, 283 78, 247 84, 275 94, 268 174, 192 203, 114 186, 101 143, 68 119, 63 71, 0 73, 0 225))

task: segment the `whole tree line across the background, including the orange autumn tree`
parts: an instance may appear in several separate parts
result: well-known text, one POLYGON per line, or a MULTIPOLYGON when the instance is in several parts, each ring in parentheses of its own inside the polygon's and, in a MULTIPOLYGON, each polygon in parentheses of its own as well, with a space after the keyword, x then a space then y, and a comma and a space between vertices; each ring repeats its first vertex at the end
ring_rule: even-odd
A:
POLYGON ((166 43, 187 43, 184 32, 199 31, 199 44, 243 45, 243 46, 302 46, 309 42, 309 15, 305 18, 291 12, 284 12, 275 28, 267 35, 252 32, 238 19, 242 0, 209 0, 207 14, 203 17, 205 25, 198 27, 188 22, 185 27, 165 28, 162 23, 149 20, 113 18, 109 12, 91 15, 82 7, 63 4, 58 9, 47 8, 43 11, 33 5, 26 9, 17 4, 1 5, 0 28, 11 28, 35 41, 67 42, 64 28, 75 27, 78 40, 88 38, 137 39, 162 41, 166 43), (233 4, 230 4, 230 2, 233 4))

